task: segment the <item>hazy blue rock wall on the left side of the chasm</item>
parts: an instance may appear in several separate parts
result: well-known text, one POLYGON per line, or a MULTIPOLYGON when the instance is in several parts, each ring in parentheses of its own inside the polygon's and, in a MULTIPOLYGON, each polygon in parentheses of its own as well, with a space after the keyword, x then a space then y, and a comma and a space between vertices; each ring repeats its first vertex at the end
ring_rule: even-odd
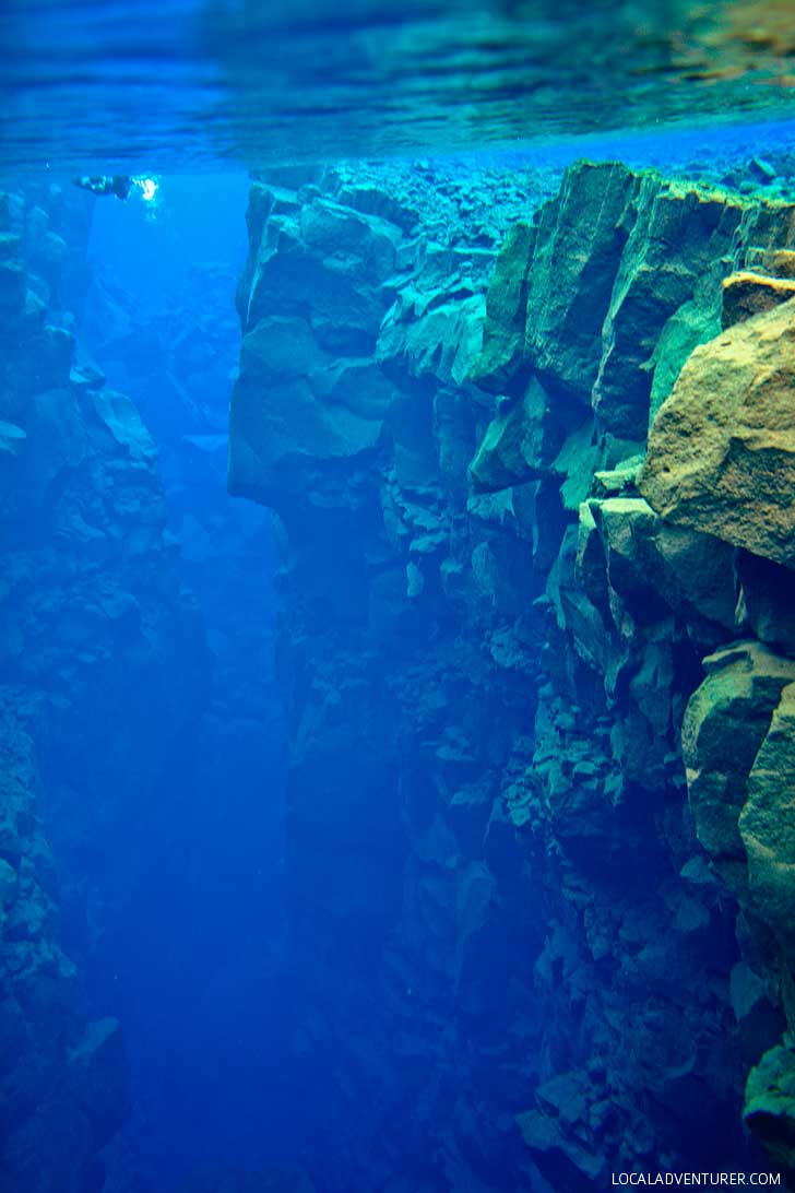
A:
POLYGON ((129 1095, 118 1024, 93 1018, 82 973, 142 889, 204 647, 151 439, 129 398, 72 369, 82 202, 0 211, 0 1187, 93 1193, 129 1095))

